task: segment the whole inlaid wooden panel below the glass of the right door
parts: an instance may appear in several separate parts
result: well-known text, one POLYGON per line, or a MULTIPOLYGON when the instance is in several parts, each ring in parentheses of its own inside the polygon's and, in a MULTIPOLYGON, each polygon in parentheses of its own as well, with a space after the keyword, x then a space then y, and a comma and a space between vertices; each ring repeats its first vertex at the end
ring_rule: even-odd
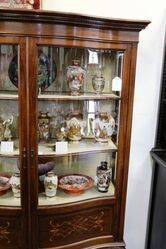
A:
POLYGON ((39 247, 53 247, 112 234, 113 210, 91 209, 39 217, 39 247))

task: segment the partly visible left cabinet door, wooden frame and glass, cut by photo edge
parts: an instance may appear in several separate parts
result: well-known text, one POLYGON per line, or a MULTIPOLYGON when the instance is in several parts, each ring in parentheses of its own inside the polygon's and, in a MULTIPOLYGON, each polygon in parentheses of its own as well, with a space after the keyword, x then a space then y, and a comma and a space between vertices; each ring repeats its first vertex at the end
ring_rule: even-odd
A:
MULTIPOLYGON (((0 244, 21 248, 27 211, 26 55, 22 38, 0 38, 0 244), (15 224, 15 226, 14 226, 15 224), (17 230, 17 233, 16 233, 17 230)), ((26 248, 26 247, 25 247, 26 248)))

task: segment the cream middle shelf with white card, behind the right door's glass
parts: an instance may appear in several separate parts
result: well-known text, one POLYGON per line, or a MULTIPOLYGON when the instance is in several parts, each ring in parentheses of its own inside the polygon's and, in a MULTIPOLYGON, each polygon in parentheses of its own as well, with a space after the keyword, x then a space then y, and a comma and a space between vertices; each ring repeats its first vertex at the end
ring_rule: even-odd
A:
POLYGON ((116 145, 110 140, 108 143, 95 142, 94 139, 84 139, 79 142, 69 142, 68 152, 56 153, 54 151, 54 145, 52 144, 39 144, 38 154, 39 156, 67 156, 67 155, 78 155, 83 153, 95 153, 95 152, 107 152, 117 151, 116 145))

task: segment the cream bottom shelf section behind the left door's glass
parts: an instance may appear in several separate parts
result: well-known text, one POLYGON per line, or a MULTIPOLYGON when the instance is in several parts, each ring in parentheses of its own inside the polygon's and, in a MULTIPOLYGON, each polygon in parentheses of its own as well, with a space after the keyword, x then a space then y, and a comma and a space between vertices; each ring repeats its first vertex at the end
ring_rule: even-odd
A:
POLYGON ((15 198, 12 191, 7 192, 5 195, 0 196, 0 207, 20 207, 21 199, 15 198))

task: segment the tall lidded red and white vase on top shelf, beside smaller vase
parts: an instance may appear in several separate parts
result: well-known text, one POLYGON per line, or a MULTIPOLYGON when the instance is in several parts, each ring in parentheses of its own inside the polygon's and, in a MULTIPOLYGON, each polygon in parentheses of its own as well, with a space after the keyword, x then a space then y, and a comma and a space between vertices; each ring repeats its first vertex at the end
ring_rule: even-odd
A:
POLYGON ((67 67, 67 83, 72 95, 79 95, 84 78, 85 70, 79 66, 79 60, 74 60, 73 65, 67 67))

